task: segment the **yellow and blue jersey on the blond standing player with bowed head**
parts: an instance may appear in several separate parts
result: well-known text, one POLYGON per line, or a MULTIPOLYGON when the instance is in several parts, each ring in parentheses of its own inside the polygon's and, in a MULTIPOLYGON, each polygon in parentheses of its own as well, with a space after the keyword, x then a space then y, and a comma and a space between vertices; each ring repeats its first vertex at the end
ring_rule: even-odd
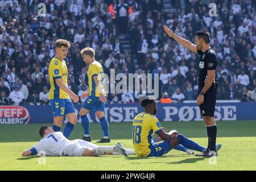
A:
POLYGON ((96 88, 96 84, 94 82, 93 77, 98 76, 98 80, 101 83, 101 89, 104 96, 106 96, 106 92, 104 90, 103 80, 104 80, 104 71, 102 68, 102 65, 98 61, 93 61, 88 67, 88 82, 89 82, 89 96, 96 96, 100 97, 100 94, 98 93, 98 88, 96 88))

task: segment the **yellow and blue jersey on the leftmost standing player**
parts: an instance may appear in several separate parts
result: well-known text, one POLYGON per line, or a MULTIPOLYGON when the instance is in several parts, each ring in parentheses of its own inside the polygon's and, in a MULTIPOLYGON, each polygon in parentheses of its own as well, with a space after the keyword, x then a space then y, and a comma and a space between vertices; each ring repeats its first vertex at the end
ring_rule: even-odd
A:
POLYGON ((64 60, 53 57, 49 64, 49 81, 51 89, 49 90, 49 99, 53 98, 69 98, 69 95, 57 86, 55 79, 61 78, 63 83, 68 86, 68 67, 64 60))

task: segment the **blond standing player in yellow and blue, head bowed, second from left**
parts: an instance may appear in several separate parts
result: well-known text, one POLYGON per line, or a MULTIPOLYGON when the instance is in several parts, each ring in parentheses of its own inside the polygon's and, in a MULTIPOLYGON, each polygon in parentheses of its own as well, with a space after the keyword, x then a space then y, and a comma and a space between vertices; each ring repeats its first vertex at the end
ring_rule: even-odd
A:
POLYGON ((100 119, 101 128, 104 133, 104 137, 98 142, 108 143, 110 142, 109 123, 104 115, 104 102, 106 101, 106 93, 103 85, 104 71, 101 64, 94 59, 94 54, 95 51, 90 47, 85 47, 81 51, 81 56, 85 64, 88 65, 87 75, 89 82, 89 89, 86 90, 86 92, 82 95, 82 97, 87 97, 79 113, 81 117, 82 127, 84 128, 84 137, 82 139, 88 142, 92 140, 89 133, 90 123, 86 114, 88 114, 90 110, 96 110, 97 118, 100 119))

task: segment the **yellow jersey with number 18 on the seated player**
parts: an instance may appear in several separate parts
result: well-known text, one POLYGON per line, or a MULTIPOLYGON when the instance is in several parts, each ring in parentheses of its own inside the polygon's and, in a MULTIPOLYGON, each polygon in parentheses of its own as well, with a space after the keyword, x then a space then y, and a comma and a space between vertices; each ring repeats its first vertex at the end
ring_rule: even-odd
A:
POLYGON ((133 148, 137 156, 148 156, 151 152, 154 133, 163 131, 158 119, 148 113, 140 113, 133 120, 133 148))

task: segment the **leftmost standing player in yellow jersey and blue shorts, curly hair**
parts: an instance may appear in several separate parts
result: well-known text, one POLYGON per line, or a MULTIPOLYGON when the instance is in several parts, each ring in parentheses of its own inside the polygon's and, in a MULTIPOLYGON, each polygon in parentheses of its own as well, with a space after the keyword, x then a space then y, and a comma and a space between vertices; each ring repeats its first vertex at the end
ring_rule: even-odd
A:
POLYGON ((49 102, 53 114, 53 130, 60 131, 64 115, 66 115, 68 123, 63 131, 66 138, 69 137, 77 122, 75 107, 71 100, 79 101, 79 97, 68 88, 67 84, 68 68, 64 59, 67 57, 69 47, 70 43, 67 40, 56 40, 54 46, 56 55, 49 64, 49 80, 51 83, 49 102))

